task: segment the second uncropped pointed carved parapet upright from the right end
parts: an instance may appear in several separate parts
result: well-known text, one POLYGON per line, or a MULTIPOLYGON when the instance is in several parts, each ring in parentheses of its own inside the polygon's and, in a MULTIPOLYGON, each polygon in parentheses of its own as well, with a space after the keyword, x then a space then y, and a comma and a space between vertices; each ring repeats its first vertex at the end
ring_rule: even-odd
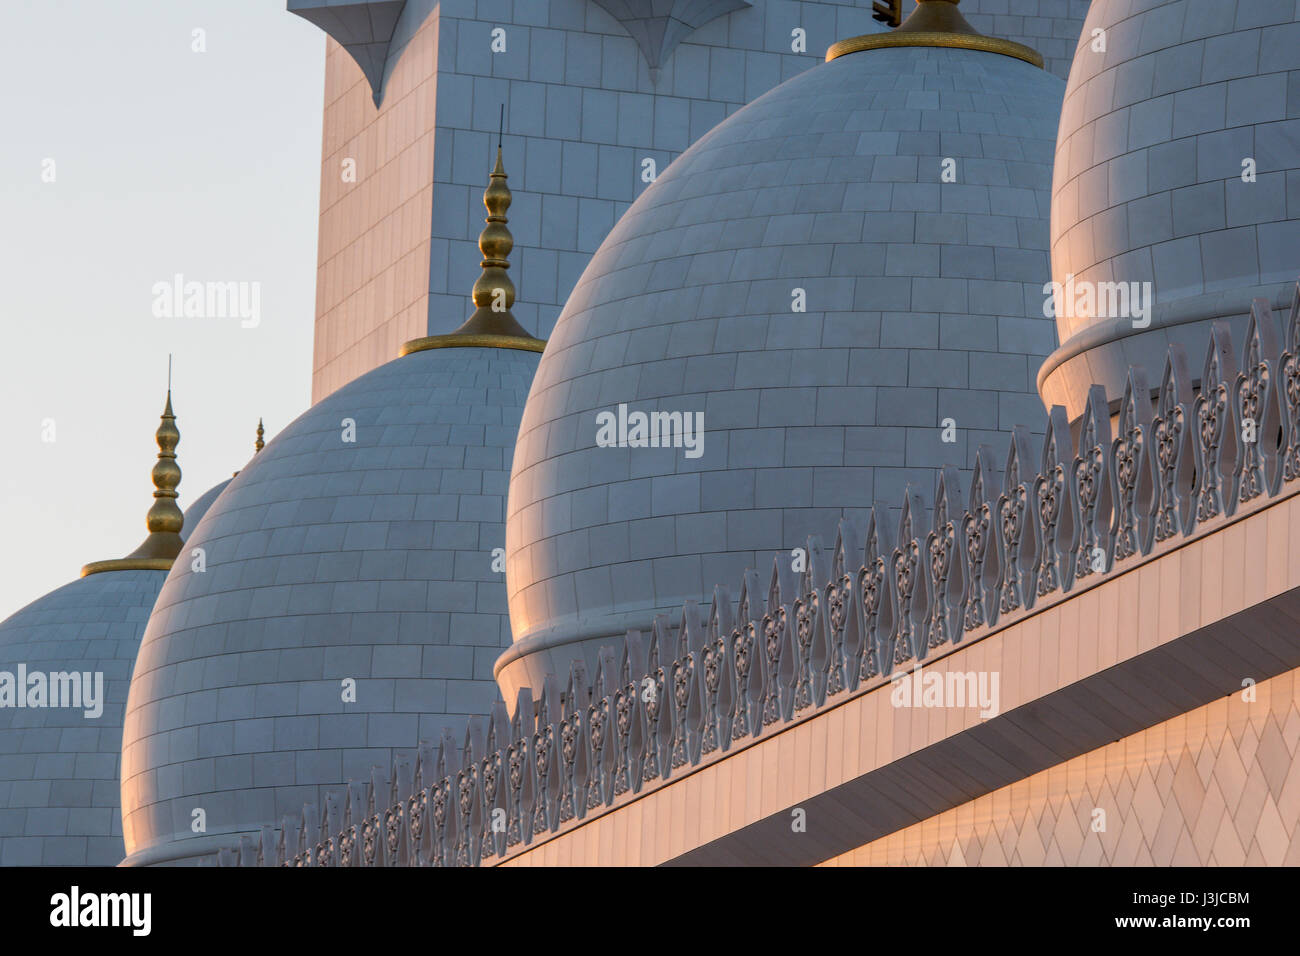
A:
POLYGON ((1238 457, 1235 402, 1228 394, 1236 381, 1236 358, 1227 323, 1210 328, 1209 347, 1196 397, 1196 520, 1231 514, 1231 483, 1238 457))

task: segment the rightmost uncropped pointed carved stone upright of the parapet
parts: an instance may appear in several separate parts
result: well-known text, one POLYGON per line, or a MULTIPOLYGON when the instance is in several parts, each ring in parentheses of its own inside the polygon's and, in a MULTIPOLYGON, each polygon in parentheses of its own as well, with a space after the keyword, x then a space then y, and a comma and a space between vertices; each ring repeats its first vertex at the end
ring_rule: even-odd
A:
POLYGON ((1251 303, 1251 320, 1242 343, 1242 371, 1234 402, 1240 454, 1232 470, 1232 506, 1261 494, 1273 494, 1278 472, 1278 436, 1282 412, 1275 394, 1278 381, 1278 334, 1268 299, 1251 303))

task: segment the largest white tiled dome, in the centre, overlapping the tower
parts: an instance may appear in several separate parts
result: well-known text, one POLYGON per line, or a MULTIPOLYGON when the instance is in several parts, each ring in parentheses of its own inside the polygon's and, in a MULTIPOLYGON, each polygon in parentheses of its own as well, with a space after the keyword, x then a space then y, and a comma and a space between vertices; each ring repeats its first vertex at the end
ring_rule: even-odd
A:
POLYGON ((1062 92, 1013 56, 852 52, 731 116, 641 195, 569 297, 524 412, 507 700, 1043 419, 1062 92), (598 447, 597 415, 620 405, 702 412, 702 455, 598 447))

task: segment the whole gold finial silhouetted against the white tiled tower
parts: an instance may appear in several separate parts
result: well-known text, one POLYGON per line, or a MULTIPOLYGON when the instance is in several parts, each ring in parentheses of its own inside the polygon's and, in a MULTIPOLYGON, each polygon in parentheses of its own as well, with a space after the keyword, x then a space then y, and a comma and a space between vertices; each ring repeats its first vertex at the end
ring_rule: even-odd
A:
POLYGON ((484 190, 484 206, 488 207, 486 225, 478 234, 478 250, 484 258, 480 265, 482 274, 473 287, 474 313, 455 332, 446 336, 426 336, 413 338, 402 346, 402 355, 426 349, 523 349, 540 352, 546 345, 540 338, 528 334, 510 311, 515 304, 515 284, 510 281, 506 269, 510 268, 510 251, 515 238, 506 226, 506 211, 510 208, 510 186, 506 185, 506 166, 500 157, 500 143, 497 144, 497 165, 484 190))

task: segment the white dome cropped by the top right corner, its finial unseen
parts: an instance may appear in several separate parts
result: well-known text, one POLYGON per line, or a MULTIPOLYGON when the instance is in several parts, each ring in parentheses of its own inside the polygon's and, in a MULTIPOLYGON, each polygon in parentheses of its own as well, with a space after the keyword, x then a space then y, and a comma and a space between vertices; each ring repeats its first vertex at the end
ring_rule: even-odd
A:
POLYGON ((1091 382, 1117 401, 1128 365, 1158 369, 1170 342, 1196 354, 1212 320, 1244 332, 1253 297, 1288 304, 1300 274, 1295 70, 1290 0, 1093 1, 1061 112, 1052 273, 1080 289, 1149 282, 1153 308, 1135 325, 1110 315, 1109 295, 1106 308, 1078 298, 1039 375, 1046 403, 1078 418, 1091 382))

